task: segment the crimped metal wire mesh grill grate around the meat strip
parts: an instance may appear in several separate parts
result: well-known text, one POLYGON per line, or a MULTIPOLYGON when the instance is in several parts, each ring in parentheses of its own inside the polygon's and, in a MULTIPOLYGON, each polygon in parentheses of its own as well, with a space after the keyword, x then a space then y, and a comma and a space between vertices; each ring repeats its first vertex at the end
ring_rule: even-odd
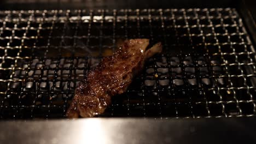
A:
POLYGON ((0 11, 0 118, 63 118, 123 39, 161 41, 102 117, 254 116, 255 51, 235 9, 0 11))

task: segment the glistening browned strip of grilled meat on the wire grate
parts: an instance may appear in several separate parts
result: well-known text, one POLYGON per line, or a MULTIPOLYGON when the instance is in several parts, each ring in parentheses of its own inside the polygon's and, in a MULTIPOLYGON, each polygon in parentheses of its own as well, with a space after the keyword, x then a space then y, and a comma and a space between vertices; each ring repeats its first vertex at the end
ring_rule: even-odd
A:
POLYGON ((146 50, 148 39, 125 40, 111 57, 102 58, 79 83, 66 113, 68 118, 94 117, 104 112, 113 95, 124 93, 144 61, 162 51, 161 43, 146 50))

